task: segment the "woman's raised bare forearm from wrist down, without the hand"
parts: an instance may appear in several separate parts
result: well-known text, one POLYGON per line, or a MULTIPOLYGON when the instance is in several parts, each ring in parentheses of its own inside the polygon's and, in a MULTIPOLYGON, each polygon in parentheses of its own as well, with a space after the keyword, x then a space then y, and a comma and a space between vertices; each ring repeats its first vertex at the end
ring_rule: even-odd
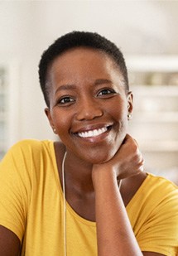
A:
POLYGON ((142 255, 111 171, 93 173, 99 256, 142 255))

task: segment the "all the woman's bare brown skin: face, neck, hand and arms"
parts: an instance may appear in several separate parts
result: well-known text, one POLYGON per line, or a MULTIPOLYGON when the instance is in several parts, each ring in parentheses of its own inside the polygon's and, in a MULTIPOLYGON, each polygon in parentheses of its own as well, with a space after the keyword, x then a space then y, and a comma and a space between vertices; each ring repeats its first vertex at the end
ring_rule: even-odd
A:
MULTIPOLYGON (((147 175, 137 142, 127 134, 132 93, 125 91, 118 67, 100 51, 73 49, 53 61, 48 86, 45 111, 61 140, 55 142, 60 181, 66 150, 66 200, 77 214, 96 221, 98 255, 162 255, 141 252, 125 210, 147 175), (106 131, 79 137, 99 128, 106 131)), ((17 236, 0 226, 0 255, 18 255, 19 248, 17 236)))

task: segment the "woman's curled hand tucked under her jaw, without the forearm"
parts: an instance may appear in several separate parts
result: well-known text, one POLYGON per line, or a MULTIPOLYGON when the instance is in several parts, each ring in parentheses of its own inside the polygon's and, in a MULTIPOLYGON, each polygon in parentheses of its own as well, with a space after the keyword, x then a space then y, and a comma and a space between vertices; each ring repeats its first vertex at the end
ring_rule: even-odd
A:
POLYGON ((118 152, 108 162, 95 164, 95 171, 112 171, 118 180, 134 176, 143 171, 144 160, 142 153, 139 151, 137 142, 130 136, 126 135, 123 144, 119 147, 118 152))

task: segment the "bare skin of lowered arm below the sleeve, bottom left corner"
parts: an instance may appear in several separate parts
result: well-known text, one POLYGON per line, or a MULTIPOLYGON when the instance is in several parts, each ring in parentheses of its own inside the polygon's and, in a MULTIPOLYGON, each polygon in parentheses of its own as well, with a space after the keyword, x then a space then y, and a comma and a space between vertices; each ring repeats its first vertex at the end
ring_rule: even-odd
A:
POLYGON ((0 255, 17 256, 20 253, 20 240, 11 230, 0 225, 0 255))

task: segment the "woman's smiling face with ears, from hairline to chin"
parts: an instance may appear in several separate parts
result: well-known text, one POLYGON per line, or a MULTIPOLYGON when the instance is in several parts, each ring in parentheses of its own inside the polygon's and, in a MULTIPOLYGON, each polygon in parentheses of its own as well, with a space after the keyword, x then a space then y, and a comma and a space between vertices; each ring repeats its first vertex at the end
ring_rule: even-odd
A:
POLYGON ((98 50, 71 49, 53 61, 48 83, 46 114, 67 150, 90 163, 112 158, 132 112, 132 94, 113 60, 98 50))

